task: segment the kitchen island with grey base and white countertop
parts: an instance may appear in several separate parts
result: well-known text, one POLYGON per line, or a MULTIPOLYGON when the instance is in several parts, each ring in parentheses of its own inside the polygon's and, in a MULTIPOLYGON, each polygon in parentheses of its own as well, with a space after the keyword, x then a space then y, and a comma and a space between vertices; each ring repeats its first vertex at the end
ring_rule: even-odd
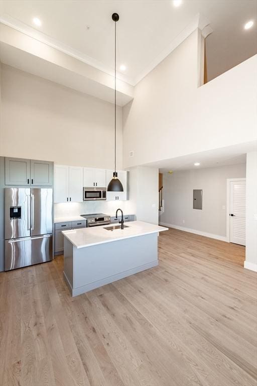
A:
POLYGON ((158 265, 158 235, 168 228, 132 221, 63 231, 64 278, 71 295, 158 265))

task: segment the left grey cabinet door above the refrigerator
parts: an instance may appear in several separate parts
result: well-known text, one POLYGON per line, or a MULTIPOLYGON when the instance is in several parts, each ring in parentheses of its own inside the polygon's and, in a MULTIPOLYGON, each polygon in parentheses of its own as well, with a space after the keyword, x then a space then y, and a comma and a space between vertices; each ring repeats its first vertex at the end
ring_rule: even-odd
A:
POLYGON ((30 184, 30 159, 5 159, 6 185, 30 184))

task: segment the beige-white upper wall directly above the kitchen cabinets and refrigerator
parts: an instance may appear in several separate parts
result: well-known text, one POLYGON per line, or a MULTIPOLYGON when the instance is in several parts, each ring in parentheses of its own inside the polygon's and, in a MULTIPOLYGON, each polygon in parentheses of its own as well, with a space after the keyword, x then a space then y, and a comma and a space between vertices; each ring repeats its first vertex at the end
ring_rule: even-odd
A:
MULTIPOLYGON (((113 167, 112 104, 4 64, 1 78, 1 155, 113 167)), ((117 108, 117 169, 122 169, 121 108, 117 108)))

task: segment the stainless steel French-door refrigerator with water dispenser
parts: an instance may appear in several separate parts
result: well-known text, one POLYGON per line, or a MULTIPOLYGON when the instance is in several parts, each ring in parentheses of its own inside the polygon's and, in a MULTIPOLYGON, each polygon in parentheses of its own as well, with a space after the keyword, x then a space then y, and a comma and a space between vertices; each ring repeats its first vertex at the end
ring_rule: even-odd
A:
POLYGON ((51 188, 5 188, 5 270, 52 260, 51 188))

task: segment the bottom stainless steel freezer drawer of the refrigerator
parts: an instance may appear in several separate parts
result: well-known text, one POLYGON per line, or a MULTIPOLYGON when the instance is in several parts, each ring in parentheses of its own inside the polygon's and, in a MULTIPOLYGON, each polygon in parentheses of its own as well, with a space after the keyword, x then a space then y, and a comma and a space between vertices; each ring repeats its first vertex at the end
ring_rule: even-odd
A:
POLYGON ((52 260, 52 235, 6 240, 5 270, 52 260))

